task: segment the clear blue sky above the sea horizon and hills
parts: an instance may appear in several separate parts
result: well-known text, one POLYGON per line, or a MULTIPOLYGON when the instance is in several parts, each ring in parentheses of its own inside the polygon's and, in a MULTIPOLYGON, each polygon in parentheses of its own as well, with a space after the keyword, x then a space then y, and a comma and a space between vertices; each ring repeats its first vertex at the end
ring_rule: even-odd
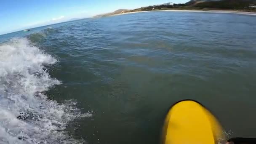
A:
POLYGON ((120 8, 134 9, 188 0, 0 0, 0 35, 120 8))

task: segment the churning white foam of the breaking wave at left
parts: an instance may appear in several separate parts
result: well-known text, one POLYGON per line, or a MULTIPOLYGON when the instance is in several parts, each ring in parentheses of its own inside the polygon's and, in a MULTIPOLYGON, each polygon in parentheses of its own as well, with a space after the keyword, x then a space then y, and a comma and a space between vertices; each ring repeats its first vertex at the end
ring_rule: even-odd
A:
POLYGON ((61 84, 44 67, 56 62, 26 38, 0 44, 0 144, 83 142, 63 131, 81 116, 75 102, 58 104, 42 93, 61 84))

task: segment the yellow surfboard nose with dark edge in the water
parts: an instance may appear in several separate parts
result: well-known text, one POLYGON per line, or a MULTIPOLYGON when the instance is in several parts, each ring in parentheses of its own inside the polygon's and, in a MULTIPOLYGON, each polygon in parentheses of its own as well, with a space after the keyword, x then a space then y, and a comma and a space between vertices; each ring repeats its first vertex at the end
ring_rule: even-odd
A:
POLYGON ((163 127, 163 144, 218 144, 224 139, 218 120, 196 101, 180 101, 171 107, 163 127))

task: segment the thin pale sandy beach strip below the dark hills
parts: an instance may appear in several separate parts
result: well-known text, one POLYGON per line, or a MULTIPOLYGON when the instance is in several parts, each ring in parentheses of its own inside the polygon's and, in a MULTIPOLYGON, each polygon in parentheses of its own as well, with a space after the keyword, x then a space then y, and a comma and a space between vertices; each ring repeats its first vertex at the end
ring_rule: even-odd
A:
MULTIPOLYGON (((208 11, 201 11, 201 10, 157 10, 157 11, 170 11, 170 12, 199 12, 199 13, 234 13, 234 14, 243 14, 243 15, 250 15, 256 16, 256 12, 246 12, 246 11, 232 11, 232 10, 208 10, 208 11)), ((124 14, 132 14, 132 13, 146 13, 146 12, 157 12, 157 11, 136 11, 136 12, 128 12, 128 13, 118 13, 109 16, 118 16, 124 14)), ((96 17, 108 17, 108 16, 94 16, 96 17)))

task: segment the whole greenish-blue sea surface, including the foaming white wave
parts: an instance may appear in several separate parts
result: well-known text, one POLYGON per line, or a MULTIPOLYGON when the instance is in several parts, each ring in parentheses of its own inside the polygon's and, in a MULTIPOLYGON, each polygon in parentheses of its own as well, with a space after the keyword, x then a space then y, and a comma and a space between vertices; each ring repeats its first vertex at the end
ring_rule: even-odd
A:
POLYGON ((0 35, 0 144, 157 144, 200 101, 256 137, 256 16, 149 12, 0 35))

